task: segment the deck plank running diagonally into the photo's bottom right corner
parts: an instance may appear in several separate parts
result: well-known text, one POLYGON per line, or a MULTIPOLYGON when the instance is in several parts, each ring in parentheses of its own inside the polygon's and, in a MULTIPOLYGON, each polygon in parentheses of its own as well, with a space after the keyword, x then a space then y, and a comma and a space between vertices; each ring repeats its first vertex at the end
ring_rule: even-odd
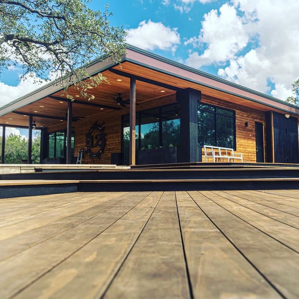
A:
POLYGON ((299 255, 263 231, 211 201, 205 192, 188 192, 248 261, 286 298, 298 298, 299 255))

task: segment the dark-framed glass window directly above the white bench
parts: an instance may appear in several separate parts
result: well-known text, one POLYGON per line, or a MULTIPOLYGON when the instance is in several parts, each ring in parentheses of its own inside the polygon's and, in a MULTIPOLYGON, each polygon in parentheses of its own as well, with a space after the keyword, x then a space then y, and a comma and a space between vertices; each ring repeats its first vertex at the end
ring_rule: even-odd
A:
POLYGON ((235 149, 235 112, 198 103, 198 146, 218 146, 235 149))

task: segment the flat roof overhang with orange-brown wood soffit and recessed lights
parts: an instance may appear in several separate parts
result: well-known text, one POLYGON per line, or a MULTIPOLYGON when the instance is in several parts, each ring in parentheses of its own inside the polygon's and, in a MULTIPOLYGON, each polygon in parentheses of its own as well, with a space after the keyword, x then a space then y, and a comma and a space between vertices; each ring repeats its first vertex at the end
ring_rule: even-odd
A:
MULTIPOLYGON (((128 46, 121 64, 114 63, 110 58, 98 59, 87 66, 87 70, 91 75, 101 72, 107 82, 91 90, 95 96, 91 102, 80 98, 79 92, 74 87, 69 87, 68 93, 75 99, 74 120, 127 109, 118 105, 113 98, 118 94, 121 94, 123 100, 130 98, 130 78, 136 79, 137 103, 175 94, 180 89, 193 88, 203 95, 260 111, 272 110, 299 116, 299 108, 295 105, 132 46, 128 46)), ((29 116, 33 117, 37 127, 52 127, 63 122, 66 125, 67 101, 69 100, 62 95, 60 83, 50 82, 0 108, 0 125, 28 127, 29 116)))

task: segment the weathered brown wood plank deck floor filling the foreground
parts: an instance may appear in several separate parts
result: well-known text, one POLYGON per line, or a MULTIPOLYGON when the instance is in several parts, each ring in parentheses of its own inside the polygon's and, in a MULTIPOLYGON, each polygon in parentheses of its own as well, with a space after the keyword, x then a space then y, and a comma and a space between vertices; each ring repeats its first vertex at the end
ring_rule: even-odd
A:
POLYGON ((299 191, 0 200, 0 298, 299 298, 299 191))

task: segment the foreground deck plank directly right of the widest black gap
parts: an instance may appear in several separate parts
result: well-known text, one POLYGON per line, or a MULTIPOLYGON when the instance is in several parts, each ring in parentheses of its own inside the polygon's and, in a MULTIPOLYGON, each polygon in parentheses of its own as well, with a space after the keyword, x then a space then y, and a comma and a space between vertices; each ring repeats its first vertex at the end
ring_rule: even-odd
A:
POLYGON ((176 192, 194 298, 280 298, 187 192, 176 192))

